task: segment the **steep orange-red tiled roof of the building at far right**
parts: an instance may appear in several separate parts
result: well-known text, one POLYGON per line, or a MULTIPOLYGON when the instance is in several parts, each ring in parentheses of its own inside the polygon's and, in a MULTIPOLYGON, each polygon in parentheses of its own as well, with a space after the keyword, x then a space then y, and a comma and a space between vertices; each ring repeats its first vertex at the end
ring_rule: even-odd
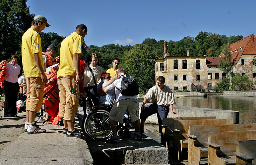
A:
MULTIPOLYGON (((255 54, 256 55, 256 37, 254 34, 251 34, 247 37, 244 37, 240 41, 237 41, 230 45, 232 54, 232 61, 235 60, 234 65, 238 62, 238 59, 241 57, 242 54, 255 54), (240 51, 242 48, 242 51, 240 51), (235 52, 237 50, 237 52, 235 52)), ((220 54, 222 57, 223 53, 220 54)), ((233 65, 233 66, 234 66, 233 65)), ((233 67, 232 66, 232 67, 233 67)))

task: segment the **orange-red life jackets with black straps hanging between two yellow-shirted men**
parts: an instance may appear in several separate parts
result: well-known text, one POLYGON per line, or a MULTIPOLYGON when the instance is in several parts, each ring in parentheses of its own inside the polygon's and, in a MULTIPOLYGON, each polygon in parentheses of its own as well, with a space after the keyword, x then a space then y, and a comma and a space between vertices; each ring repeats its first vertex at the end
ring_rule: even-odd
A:
POLYGON ((59 89, 57 84, 57 71, 50 69, 51 74, 46 74, 48 82, 44 87, 44 109, 51 116, 50 122, 56 125, 59 121, 59 89))

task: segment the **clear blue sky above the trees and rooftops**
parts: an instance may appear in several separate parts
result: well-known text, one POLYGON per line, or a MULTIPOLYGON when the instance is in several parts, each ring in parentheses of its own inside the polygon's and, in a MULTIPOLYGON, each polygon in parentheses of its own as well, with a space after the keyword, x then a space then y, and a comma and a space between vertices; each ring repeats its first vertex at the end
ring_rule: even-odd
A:
POLYGON ((88 27, 85 43, 135 45, 145 38, 179 41, 201 31, 221 35, 256 33, 255 0, 28 0, 30 13, 43 15, 44 32, 69 36, 88 27))

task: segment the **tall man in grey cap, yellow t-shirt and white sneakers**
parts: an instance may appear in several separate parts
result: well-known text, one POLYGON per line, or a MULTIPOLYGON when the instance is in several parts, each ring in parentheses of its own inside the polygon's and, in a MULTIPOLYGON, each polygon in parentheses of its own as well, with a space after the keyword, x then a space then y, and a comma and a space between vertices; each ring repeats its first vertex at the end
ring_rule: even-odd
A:
POLYGON ((21 44, 22 64, 27 81, 27 121, 24 130, 28 134, 46 132, 35 123, 35 113, 42 107, 44 84, 47 83, 43 68, 41 38, 37 32, 40 33, 45 26, 50 26, 47 19, 40 15, 34 17, 31 25, 31 28, 23 34, 21 44))

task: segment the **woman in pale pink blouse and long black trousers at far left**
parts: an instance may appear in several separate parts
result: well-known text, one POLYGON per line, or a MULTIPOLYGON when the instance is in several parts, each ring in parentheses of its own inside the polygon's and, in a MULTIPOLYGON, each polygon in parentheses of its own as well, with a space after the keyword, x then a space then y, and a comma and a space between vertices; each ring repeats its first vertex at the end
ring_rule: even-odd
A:
MULTIPOLYGON (((3 60, 0 64, 6 62, 3 60)), ((4 116, 15 117, 17 115, 16 101, 19 93, 18 75, 21 67, 17 64, 18 56, 12 55, 11 61, 6 63, 3 91, 5 96, 4 101, 4 116)))

